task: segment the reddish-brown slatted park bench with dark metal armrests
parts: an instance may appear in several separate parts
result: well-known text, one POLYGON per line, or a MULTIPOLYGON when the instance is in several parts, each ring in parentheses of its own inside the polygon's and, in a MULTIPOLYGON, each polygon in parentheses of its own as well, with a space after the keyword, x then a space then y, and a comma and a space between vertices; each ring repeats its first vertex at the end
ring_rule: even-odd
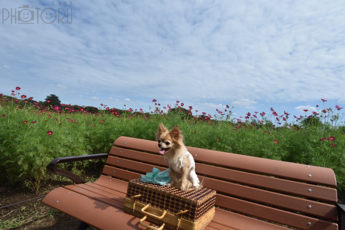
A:
MULTIPOLYGON (((204 186, 217 191, 215 217, 206 230, 345 229, 332 169, 187 147, 204 186)), ((167 168, 157 142, 119 137, 109 154, 56 158, 50 169, 77 184, 52 190, 43 203, 98 229, 146 229, 124 212, 129 180, 167 168), (57 168, 59 163, 107 157, 93 183, 57 168)), ((150 224, 155 226, 155 224, 150 224)))

